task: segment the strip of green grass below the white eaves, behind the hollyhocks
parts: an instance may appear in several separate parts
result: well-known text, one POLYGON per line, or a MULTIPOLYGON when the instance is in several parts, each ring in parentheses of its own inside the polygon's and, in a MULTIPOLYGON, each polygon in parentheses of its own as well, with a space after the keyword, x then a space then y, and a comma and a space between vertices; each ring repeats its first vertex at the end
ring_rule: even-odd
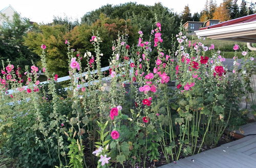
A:
MULTIPOLYGON (((197 36, 188 36, 188 39, 191 40, 191 44, 198 42, 197 36)), ((204 45, 210 46, 211 44, 215 45, 215 49, 221 51, 221 54, 226 59, 232 59, 234 57, 234 44, 238 44, 242 50, 248 50, 247 44, 245 42, 237 41, 227 41, 227 40, 213 40, 206 38, 205 40, 200 40, 204 45)), ((206 51, 206 56, 210 55, 210 51, 206 51)), ((243 58, 242 52, 237 54, 238 58, 243 58)))

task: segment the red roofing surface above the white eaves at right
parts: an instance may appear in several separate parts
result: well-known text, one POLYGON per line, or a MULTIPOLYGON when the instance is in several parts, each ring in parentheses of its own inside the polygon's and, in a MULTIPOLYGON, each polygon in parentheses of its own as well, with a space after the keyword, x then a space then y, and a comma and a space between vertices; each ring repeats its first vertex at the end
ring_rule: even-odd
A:
POLYGON ((232 20, 228 20, 228 21, 224 21, 215 25, 210 25, 207 27, 202 27, 199 30, 205 30, 205 29, 212 29, 212 28, 216 28, 216 27, 222 27, 222 26, 226 26, 226 25, 231 25, 231 24, 238 24, 238 23, 246 23, 246 22, 251 22, 251 21, 256 21, 256 14, 252 14, 252 15, 248 15, 248 16, 243 16, 237 19, 232 19, 232 20))

